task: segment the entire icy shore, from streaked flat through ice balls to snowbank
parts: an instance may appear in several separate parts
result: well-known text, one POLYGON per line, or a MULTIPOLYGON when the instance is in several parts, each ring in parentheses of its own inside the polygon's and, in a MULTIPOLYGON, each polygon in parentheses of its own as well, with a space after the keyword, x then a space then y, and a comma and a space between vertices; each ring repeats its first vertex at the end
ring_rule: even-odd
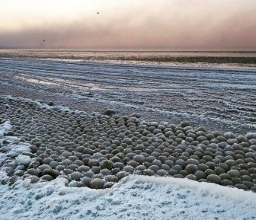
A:
POLYGON ((0 77, 2 219, 255 218, 256 69, 5 56, 0 77))

